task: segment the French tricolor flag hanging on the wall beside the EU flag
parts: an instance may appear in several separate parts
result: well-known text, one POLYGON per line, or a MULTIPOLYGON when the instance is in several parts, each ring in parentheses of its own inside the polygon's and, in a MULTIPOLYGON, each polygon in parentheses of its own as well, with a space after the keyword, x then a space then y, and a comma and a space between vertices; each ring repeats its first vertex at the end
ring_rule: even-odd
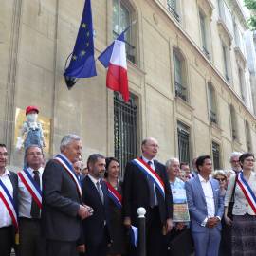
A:
POLYGON ((106 86, 121 93, 125 102, 129 101, 129 89, 127 78, 127 63, 125 53, 125 29, 119 37, 108 46, 99 56, 101 64, 108 68, 106 86))

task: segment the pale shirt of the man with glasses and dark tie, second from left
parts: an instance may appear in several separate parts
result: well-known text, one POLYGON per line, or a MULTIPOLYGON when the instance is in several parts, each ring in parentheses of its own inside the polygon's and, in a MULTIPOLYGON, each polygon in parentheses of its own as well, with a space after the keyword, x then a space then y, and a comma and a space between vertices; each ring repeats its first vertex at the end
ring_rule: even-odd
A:
MULTIPOLYGON (((28 173, 34 178, 34 173, 32 168, 27 168, 28 173)), ((40 177, 40 189, 42 190, 42 175, 44 172, 44 168, 40 167, 38 169, 39 177, 40 177)), ((31 204, 32 204, 32 196, 30 192, 27 191, 26 186, 22 182, 19 177, 19 217, 26 217, 31 218, 30 211, 31 211, 31 204)))

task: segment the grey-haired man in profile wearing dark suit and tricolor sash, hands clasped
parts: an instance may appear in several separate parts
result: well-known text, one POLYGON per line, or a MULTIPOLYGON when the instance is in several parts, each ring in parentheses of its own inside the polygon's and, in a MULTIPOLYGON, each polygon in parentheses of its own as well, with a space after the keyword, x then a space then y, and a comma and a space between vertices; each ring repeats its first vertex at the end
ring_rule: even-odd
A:
POLYGON ((60 149, 61 154, 49 160, 43 174, 42 228, 47 256, 74 256, 82 219, 90 215, 82 204, 80 183, 72 166, 81 155, 80 137, 65 136, 60 149))

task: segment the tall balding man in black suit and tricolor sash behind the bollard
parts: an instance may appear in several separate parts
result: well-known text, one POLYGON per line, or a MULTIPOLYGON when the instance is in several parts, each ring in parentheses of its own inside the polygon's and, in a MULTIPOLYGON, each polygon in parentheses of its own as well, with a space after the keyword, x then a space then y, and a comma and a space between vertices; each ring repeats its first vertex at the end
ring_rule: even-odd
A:
MULTIPOLYGON (((127 163, 123 181, 124 225, 138 227, 137 209, 146 209, 147 256, 165 254, 164 234, 172 227, 172 193, 165 166, 154 158, 158 152, 157 140, 145 138, 141 144, 140 158, 127 163), (142 166, 142 169, 141 169, 142 166), (143 167, 151 170, 163 186, 145 174, 143 167), (161 189, 162 188, 162 189, 161 189)), ((134 253, 137 255, 137 251, 134 253)))

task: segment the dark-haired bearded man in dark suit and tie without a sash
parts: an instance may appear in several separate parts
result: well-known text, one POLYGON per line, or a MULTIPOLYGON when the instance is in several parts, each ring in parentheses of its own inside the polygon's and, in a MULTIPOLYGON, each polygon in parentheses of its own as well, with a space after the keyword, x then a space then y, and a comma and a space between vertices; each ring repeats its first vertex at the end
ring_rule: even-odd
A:
POLYGON ((86 256, 105 256, 110 243, 108 191, 101 180, 105 157, 90 155, 87 167, 89 174, 82 179, 82 201, 92 207, 93 214, 82 222, 86 256))

